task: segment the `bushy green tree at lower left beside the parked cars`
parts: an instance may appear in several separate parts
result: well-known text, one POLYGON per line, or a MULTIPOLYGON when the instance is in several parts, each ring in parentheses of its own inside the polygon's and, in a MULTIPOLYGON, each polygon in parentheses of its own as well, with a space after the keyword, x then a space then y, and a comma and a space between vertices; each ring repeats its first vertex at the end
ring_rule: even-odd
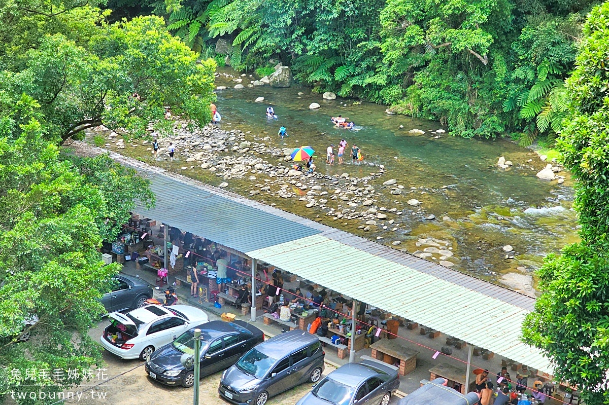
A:
POLYGON ((0 111, 0 398, 50 403, 29 393, 62 392, 101 365, 87 331, 119 265, 97 247, 153 195, 108 157, 60 156, 32 97, 0 91, 0 111))

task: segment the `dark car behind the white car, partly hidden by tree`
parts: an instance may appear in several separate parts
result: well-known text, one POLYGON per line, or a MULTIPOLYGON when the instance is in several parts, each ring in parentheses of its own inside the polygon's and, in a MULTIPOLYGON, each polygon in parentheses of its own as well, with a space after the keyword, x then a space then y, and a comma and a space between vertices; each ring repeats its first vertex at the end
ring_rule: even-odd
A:
POLYGON ((141 308, 152 298, 152 286, 138 277, 117 274, 112 277, 112 283, 112 291, 106 292, 101 299, 108 312, 141 308))

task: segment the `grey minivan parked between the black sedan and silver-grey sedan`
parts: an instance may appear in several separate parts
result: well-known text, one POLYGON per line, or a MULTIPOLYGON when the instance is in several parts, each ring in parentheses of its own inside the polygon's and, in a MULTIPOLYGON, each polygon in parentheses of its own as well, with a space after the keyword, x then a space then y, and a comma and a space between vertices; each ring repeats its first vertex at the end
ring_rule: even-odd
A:
POLYGON ((238 405, 264 405, 271 397, 323 373, 322 345, 306 331, 282 333, 252 348, 222 373, 218 393, 238 405))

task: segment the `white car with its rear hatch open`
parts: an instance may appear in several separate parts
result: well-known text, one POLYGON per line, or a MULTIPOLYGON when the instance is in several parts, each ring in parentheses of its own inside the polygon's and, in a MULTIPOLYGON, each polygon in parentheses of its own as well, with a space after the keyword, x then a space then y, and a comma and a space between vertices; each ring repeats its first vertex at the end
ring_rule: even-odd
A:
POLYGON ((208 322, 205 312, 189 305, 146 305, 126 314, 108 314, 108 325, 99 339, 110 353, 123 359, 145 360, 193 325, 208 322))

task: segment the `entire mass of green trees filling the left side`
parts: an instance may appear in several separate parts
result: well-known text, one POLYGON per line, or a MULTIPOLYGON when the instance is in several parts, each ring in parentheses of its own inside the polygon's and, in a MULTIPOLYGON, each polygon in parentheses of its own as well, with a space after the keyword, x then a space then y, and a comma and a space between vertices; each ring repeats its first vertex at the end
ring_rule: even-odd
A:
POLYGON ((135 170, 60 145, 100 124, 171 130, 167 105, 194 125, 211 119, 214 61, 199 63, 163 18, 109 14, 72 0, 0 3, 0 403, 53 403, 102 365, 88 330, 120 266, 97 249, 136 202, 154 202, 135 170), (30 396, 41 386, 46 398, 30 396))

